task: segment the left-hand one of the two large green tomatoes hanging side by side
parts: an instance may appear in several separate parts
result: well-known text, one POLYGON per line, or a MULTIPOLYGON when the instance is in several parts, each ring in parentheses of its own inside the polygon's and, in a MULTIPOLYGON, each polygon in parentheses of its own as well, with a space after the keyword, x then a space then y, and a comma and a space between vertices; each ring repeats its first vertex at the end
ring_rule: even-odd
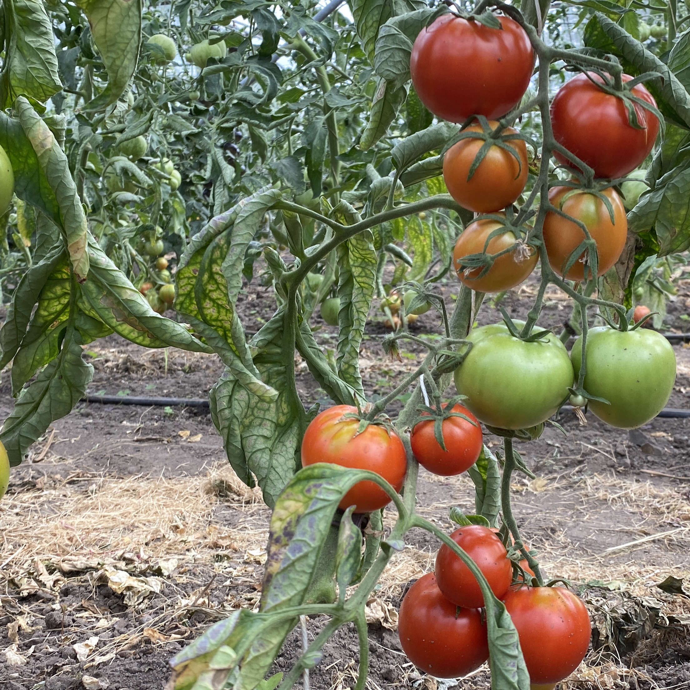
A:
POLYGON ((568 397, 573 366, 553 333, 525 342, 506 324, 491 324, 475 328, 467 339, 473 345, 455 370, 455 388, 466 396, 464 406, 484 424, 503 429, 536 426, 568 397))

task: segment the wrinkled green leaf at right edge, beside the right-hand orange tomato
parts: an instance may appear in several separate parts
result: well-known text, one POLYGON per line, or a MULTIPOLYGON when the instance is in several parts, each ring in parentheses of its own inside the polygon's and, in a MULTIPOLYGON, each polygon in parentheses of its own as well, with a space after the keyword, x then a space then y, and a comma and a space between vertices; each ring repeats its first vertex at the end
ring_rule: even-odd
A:
POLYGON ((660 256, 690 248, 690 166, 678 166, 656 182, 628 214, 633 233, 655 228, 660 256))

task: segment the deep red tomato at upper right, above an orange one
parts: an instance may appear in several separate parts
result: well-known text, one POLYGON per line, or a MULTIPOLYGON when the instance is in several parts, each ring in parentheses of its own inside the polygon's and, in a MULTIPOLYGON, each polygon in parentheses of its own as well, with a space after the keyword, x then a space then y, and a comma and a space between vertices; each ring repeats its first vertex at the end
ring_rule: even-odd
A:
MULTIPOLYGON (((623 81, 631 79, 630 75, 623 75, 623 81)), ((594 72, 579 74, 564 83, 555 95, 551 103, 553 136, 593 168, 595 177, 624 177, 649 155, 659 133, 659 120, 653 112, 635 103, 642 129, 634 128, 622 99, 602 91, 592 80, 604 83, 594 72)), ((632 93, 656 106, 642 84, 633 86, 632 93)), ((560 153, 556 152, 555 157, 575 168, 560 153)))

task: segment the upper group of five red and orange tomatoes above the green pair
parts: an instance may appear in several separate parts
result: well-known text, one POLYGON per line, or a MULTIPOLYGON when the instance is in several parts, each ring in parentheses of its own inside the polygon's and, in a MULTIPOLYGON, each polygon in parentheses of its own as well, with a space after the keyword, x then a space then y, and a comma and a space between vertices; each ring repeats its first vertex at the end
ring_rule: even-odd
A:
MULTIPOLYGON (((529 161, 524 139, 513 128, 498 130, 497 120, 520 103, 534 59, 522 27, 510 17, 497 19, 501 30, 443 14, 417 36, 411 75, 417 94, 434 115, 457 123, 482 116, 482 121, 464 129, 471 136, 466 134, 446 152, 444 180, 463 208, 503 216, 504 209, 524 190, 529 161)), ((631 79, 622 76, 623 83, 631 79)), ((655 108, 642 84, 633 86, 629 95, 616 94, 608 80, 608 75, 586 72, 567 81, 551 103, 551 128, 558 144, 593 168, 595 177, 617 179, 649 155, 659 121, 635 100, 655 108), (637 126, 631 124, 628 108, 634 108, 637 126)), ((555 157, 577 170, 562 152, 556 151, 555 157)), ((606 273, 620 257, 627 237, 626 213, 618 191, 608 187, 596 193, 557 184, 549 192, 549 201, 562 212, 550 211, 544 219, 544 247, 553 270, 575 281, 592 277, 586 249, 571 257, 586 236, 566 215, 586 226, 597 248, 597 273, 606 273)), ((469 224, 453 254, 458 277, 481 292, 517 286, 537 264, 535 248, 524 242, 528 234, 527 227, 513 228, 509 221, 495 218, 469 224), (466 257, 482 253, 493 255, 493 263, 476 266, 464 262, 466 257)))

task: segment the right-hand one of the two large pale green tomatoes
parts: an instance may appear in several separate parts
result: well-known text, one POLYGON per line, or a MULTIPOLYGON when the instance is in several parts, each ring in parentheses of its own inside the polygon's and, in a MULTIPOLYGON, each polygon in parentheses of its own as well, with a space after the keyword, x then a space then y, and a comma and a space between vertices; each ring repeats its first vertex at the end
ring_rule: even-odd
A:
MULTIPOLYGON (((676 382, 676 355, 656 331, 610 326, 590 328, 586 340, 583 388, 592 396, 588 408, 602 422, 636 428, 653 420, 667 404, 676 382)), ((571 351, 575 377, 580 374, 582 337, 571 351)))

